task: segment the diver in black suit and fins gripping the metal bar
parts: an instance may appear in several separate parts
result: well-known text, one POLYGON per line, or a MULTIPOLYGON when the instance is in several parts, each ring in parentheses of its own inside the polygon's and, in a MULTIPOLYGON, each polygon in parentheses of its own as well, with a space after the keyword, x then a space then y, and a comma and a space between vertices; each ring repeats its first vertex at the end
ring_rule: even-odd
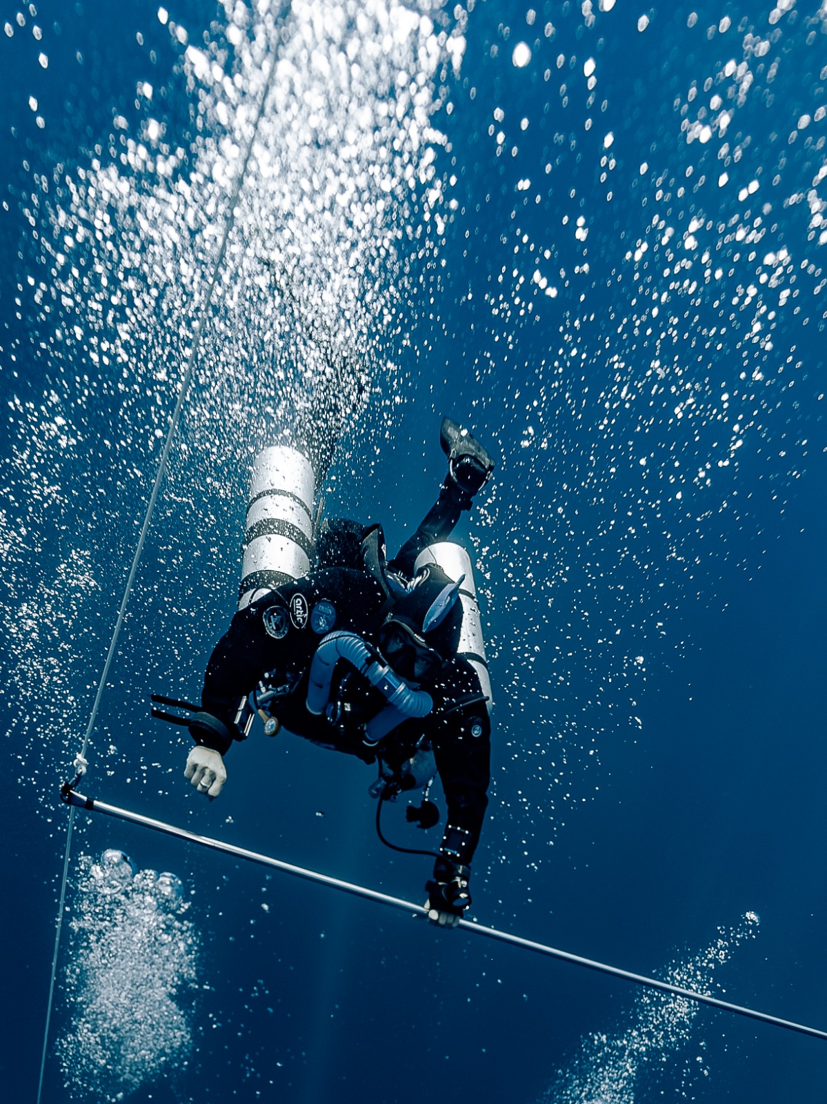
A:
POLYGON ((428 909, 434 922, 453 926, 470 905, 469 867, 488 804, 490 723, 479 677, 457 655, 459 583, 436 564, 414 573, 414 561, 427 545, 448 538, 494 464, 448 418, 441 444, 448 475, 392 561, 384 559, 381 526, 324 522, 315 570, 235 614, 206 667, 202 710, 190 721, 197 746, 185 774, 199 793, 218 796, 226 779, 223 756, 234 740, 244 739, 234 723, 240 699, 256 688, 277 718, 272 728, 280 724, 365 763, 379 761, 391 793, 415 785, 406 779, 406 765, 417 749, 430 745, 447 802, 447 827, 427 883, 428 909), (352 654, 336 662, 329 691, 322 691, 326 708, 311 712, 311 664, 333 629, 360 637, 370 658, 379 659, 383 670, 391 668, 391 679, 401 677, 395 680, 401 694, 424 691, 433 702, 426 714, 392 713, 388 686, 383 692, 371 684, 352 654))

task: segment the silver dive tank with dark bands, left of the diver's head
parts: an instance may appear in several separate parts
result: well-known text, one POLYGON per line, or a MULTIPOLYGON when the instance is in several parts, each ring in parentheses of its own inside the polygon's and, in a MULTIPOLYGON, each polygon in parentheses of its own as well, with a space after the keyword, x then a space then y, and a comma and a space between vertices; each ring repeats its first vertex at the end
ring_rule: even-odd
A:
POLYGON ((238 609, 310 570, 316 479, 295 448, 273 445, 253 463, 238 609))

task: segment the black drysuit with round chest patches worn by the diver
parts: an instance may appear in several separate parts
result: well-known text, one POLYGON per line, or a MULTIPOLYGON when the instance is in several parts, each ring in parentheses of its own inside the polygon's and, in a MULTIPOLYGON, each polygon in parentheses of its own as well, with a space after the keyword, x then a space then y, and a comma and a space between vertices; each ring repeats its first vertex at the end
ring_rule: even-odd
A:
MULTIPOLYGON (((436 506, 390 566, 412 574, 418 551, 434 539, 444 539, 458 512, 450 489, 443 488, 436 506)), ((353 562, 359 563, 359 556, 353 562)), ((424 736, 433 747, 448 824, 464 829, 457 861, 469 864, 488 804, 490 723, 479 678, 467 659, 447 657, 437 678, 421 687, 433 699, 431 712, 420 720, 404 721, 375 746, 365 744, 364 724, 384 709, 386 700, 348 660, 340 659, 335 669, 332 709, 316 716, 305 704, 310 662, 326 633, 344 629, 369 645, 375 644, 379 626, 393 607, 380 577, 375 569, 362 565, 322 567, 280 585, 238 612, 210 657, 202 707, 238 739, 233 724, 238 701, 265 680, 278 691, 268 708, 286 730, 368 763, 379 755, 393 769, 413 754, 424 736), (314 616, 319 603, 325 604, 321 608, 327 614, 324 625, 314 616), (335 611, 333 624, 329 606, 335 611)), ((197 743, 222 755, 232 742, 231 736, 201 728, 197 719, 190 731, 197 743)))

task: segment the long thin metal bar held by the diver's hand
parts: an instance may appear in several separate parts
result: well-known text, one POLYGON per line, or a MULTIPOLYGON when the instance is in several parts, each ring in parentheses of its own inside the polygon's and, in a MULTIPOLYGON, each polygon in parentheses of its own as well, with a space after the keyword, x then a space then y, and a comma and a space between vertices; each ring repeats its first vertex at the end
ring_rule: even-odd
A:
MULTIPOLYGON (((63 800, 67 805, 74 805, 78 808, 86 809, 87 813, 103 813, 106 816, 115 817, 118 820, 127 820, 130 824, 140 825, 144 828, 151 828, 153 831, 163 832, 167 836, 174 836, 177 839, 187 840, 190 843, 198 843, 200 847, 210 847, 216 851, 223 851, 225 854, 235 856, 237 859, 245 859, 248 862, 256 862, 262 867, 271 867, 275 870, 282 870, 286 874, 294 874, 297 878, 303 878, 306 881, 317 882, 320 885, 328 885, 331 889, 341 890, 344 893, 351 893, 354 896, 367 898, 370 901, 378 901, 380 904, 388 904, 394 909, 402 909, 415 916, 427 916, 428 910, 423 905, 414 904, 412 901, 404 901, 402 898, 390 896, 388 893, 380 893, 378 890, 371 890, 365 885, 357 885, 353 882, 342 881, 340 878, 332 878, 330 874, 321 874, 316 870, 308 870, 305 867, 296 867, 290 862, 285 862, 282 859, 273 859, 267 854, 259 854, 257 851, 248 851, 243 847, 235 847, 233 843, 224 843, 218 839, 211 839, 209 836, 199 836, 195 832, 188 831, 185 828, 177 828, 174 825, 165 824, 162 820, 153 820, 151 817, 145 817, 139 813, 132 813, 129 809, 118 808, 116 805, 107 805, 105 802, 97 802, 91 797, 84 797, 83 794, 78 794, 76 790, 68 786, 64 786, 62 792, 63 800)), ((526 940, 520 935, 511 935, 509 932, 501 932, 495 927, 484 927, 481 924, 473 923, 468 920, 460 920, 457 927, 463 928, 465 932, 471 932, 474 935, 484 935, 489 940, 496 940, 499 943, 508 943, 515 947, 522 947, 526 951, 533 951, 537 954, 545 955, 550 958, 558 958, 561 962, 571 963, 574 966, 584 966, 586 969, 596 970, 600 974, 608 974, 611 977, 619 977, 625 981, 632 981, 634 985, 645 986, 648 989, 657 989, 659 992, 669 994, 672 997, 682 997, 686 1000, 693 1000, 701 1005, 708 1005, 710 1008, 718 1008, 720 1011, 724 1012, 735 1012, 738 1016, 745 1016, 749 1019, 760 1020, 762 1023, 770 1023, 773 1027, 786 1028, 788 1031, 797 1031, 801 1034, 812 1036, 814 1039, 827 1039, 827 1031, 821 1031, 818 1028, 810 1028, 804 1023, 794 1023, 792 1020, 783 1020, 777 1016, 771 1016, 768 1012, 760 1012, 754 1008, 744 1008, 741 1005, 732 1005, 728 1000, 721 1000, 718 997, 711 997, 706 992, 697 992, 695 989, 685 989, 679 985, 672 985, 669 981, 661 981, 655 977, 646 977, 643 974, 633 974, 630 970, 621 969, 618 966, 609 966, 606 963, 598 963, 592 958, 583 958, 581 955, 573 955, 569 951, 560 951, 556 947, 550 947, 544 943, 534 943, 533 940, 526 940)))

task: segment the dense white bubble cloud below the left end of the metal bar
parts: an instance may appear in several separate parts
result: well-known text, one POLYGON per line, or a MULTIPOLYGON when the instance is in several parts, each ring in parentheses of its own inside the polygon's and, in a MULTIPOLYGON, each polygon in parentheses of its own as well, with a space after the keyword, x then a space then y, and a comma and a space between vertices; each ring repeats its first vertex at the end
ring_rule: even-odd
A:
POLYGON ((187 1066, 195 928, 176 874, 135 872, 109 849, 79 860, 64 991, 72 1022, 57 1040, 74 1098, 123 1100, 187 1066))

